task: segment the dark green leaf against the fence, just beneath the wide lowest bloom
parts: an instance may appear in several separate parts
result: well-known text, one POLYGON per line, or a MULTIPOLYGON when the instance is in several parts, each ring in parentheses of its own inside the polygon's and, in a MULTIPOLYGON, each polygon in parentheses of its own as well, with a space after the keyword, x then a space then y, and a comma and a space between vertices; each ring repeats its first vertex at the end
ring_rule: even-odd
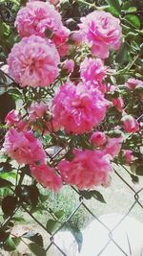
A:
POLYGON ((82 197, 86 199, 95 198, 96 200, 99 200, 103 203, 106 203, 105 199, 103 198, 102 194, 96 190, 86 191, 86 190, 80 190, 80 194, 82 197))

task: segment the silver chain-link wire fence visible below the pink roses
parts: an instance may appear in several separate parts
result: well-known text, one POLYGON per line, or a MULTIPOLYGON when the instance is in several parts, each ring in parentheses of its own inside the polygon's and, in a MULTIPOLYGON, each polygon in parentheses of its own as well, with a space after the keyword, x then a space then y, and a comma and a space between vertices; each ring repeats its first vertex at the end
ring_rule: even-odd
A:
MULTIPOLYGON (((138 120, 142 120, 143 115, 141 115, 138 120)), ((1 136, 4 133, 1 133, 1 136)), ((60 153, 60 151, 56 152, 54 154, 54 156, 52 157, 52 159, 58 154, 60 153)), ((126 169, 126 167, 122 167, 122 169, 128 173, 128 170, 126 169)), ((109 240, 106 244, 104 244, 104 246, 101 248, 100 252, 97 255, 101 255, 104 253, 106 253, 106 248, 108 247, 108 245, 112 242, 117 248, 118 250, 122 253, 121 255, 127 255, 130 256, 132 255, 132 252, 130 254, 127 253, 127 251, 125 251, 120 244, 118 244, 114 238, 113 238, 113 232, 116 230, 116 228, 122 224, 123 221, 126 220, 126 218, 133 212, 134 207, 136 207, 136 205, 139 206, 139 208, 141 210, 143 210, 143 201, 142 201, 142 197, 141 197, 141 193, 143 192, 143 187, 141 187, 139 190, 135 190, 134 186, 132 186, 131 183, 129 183, 129 180, 127 180, 123 175, 121 175, 119 168, 116 169, 114 168, 114 174, 120 179, 120 181, 124 184, 124 186, 126 188, 128 188, 128 190, 131 192, 131 195, 133 197, 133 203, 131 203, 130 207, 125 209, 126 213, 124 214, 124 217, 118 221, 112 228, 109 228, 104 221, 100 220, 100 218, 98 218, 98 216, 96 216, 96 213, 94 213, 92 211, 92 209, 90 209, 89 205, 87 205, 87 200, 85 198, 83 198, 82 194, 80 193, 80 191, 76 190, 74 187, 72 187, 72 190, 74 191, 74 193, 76 193, 78 195, 79 198, 79 202, 77 203, 75 209, 72 211, 71 215, 66 219, 66 221, 63 221, 60 226, 51 234, 49 234, 47 227, 45 225, 43 225, 43 223, 40 220, 37 220, 30 212, 30 210, 25 206, 24 203, 22 203, 20 206, 18 206, 15 211, 13 212, 13 214, 6 219, 3 223, 1 223, 1 227, 0 227, 0 232, 2 230, 4 230, 4 228, 10 223, 11 218, 17 213, 17 211, 19 210, 19 208, 21 207, 28 215, 29 217, 31 217, 32 221, 35 221, 37 225, 39 225, 45 232, 47 232, 47 238, 50 241, 50 244, 47 246, 46 248, 46 253, 49 253, 49 251, 51 250, 51 246, 54 246, 56 248, 56 250, 58 251, 59 255, 65 255, 65 256, 69 256, 64 249, 60 246, 60 244, 56 243, 55 240, 55 236, 65 227, 67 227, 67 224, 70 223, 70 221, 72 221, 72 217, 76 214, 76 212, 83 207, 84 210, 96 221, 98 221, 102 226, 105 227, 105 230, 108 231, 108 236, 109 236, 109 240)), ((67 195, 68 198, 68 195, 67 195)), ((66 207, 66 202, 65 202, 65 207, 66 207)), ((52 211, 50 211, 51 217, 52 217, 52 211)), ((66 241, 65 241, 66 244, 66 241)), ((130 247, 130 241, 129 241, 129 247, 130 247)), ((1 255, 5 255, 2 254, 1 255)), ((51 255, 51 254, 50 254, 51 255)), ((105 254, 106 255, 106 254, 105 254)), ((107 254, 108 255, 108 254, 107 254)), ((40 255, 39 255, 40 256, 40 255)), ((95 255, 93 255, 95 256, 95 255)))

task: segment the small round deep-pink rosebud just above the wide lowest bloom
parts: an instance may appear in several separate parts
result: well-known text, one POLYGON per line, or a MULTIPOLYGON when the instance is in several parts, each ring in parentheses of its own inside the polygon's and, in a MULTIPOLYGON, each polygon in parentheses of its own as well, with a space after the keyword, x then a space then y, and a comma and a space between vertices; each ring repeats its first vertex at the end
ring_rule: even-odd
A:
POLYGON ((90 138, 92 145, 94 145, 95 147, 102 146, 103 144, 106 143, 106 140, 107 140, 106 135, 102 131, 94 131, 90 138))

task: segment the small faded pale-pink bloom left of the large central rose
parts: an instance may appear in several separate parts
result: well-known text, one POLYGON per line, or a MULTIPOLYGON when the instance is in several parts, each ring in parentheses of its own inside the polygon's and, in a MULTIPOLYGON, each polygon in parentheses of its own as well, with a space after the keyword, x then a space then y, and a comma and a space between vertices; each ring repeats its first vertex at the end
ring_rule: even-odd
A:
POLYGON ((34 121, 37 118, 41 118, 48 111, 48 106, 45 103, 32 103, 28 109, 29 118, 34 121))

